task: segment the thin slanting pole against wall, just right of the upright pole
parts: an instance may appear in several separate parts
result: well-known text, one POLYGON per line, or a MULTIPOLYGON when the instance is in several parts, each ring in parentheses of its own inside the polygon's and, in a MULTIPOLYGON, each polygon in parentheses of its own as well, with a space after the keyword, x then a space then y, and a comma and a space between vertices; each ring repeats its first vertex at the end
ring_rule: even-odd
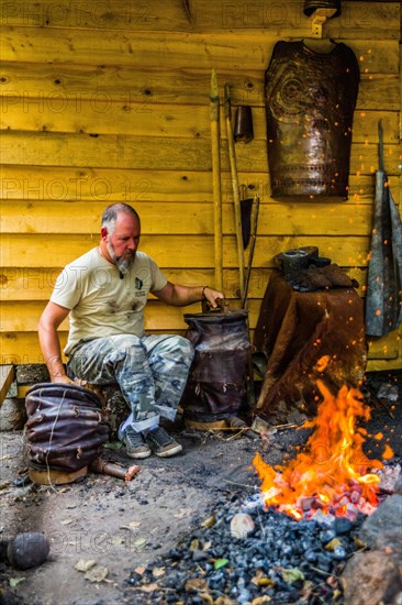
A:
POLYGON ((227 84, 225 85, 224 108, 225 108, 225 122, 226 122, 226 135, 227 135, 227 146, 228 146, 228 158, 230 158, 230 163, 231 163, 233 204, 234 204, 234 211, 235 211, 235 230, 236 230, 236 243, 237 243, 239 290, 241 290, 241 299, 243 300, 243 297, 244 297, 244 254, 243 254, 243 234, 242 234, 242 209, 241 209, 241 195, 239 195, 239 189, 238 189, 236 150, 235 150, 235 145, 234 145, 233 130, 232 130, 231 91, 230 91, 230 87, 228 87, 227 84))

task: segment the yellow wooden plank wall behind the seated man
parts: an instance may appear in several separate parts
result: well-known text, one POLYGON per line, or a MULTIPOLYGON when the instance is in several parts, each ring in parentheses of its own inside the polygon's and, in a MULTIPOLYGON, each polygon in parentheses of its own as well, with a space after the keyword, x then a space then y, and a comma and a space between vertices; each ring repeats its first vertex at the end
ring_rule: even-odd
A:
MULTIPOLYGON (((382 119, 386 167, 401 200, 399 2, 342 2, 324 37, 361 70, 346 202, 270 198, 264 72, 279 40, 312 37, 303 2, 2 0, 1 359, 41 363, 36 324, 60 268, 98 242, 108 204, 132 202, 142 249, 171 279, 213 284, 211 70, 253 107, 255 139, 236 145, 239 180, 261 201, 249 287, 256 324, 272 257, 317 245, 360 283, 367 274, 382 119)), ((222 120, 222 127, 224 122, 222 120)), ((238 306, 232 184, 222 129, 224 288, 238 306)), ((147 329, 181 331, 183 311, 150 301, 147 329)), ((67 324, 62 326, 62 340, 67 324)), ((369 370, 401 367, 393 332, 369 370)))

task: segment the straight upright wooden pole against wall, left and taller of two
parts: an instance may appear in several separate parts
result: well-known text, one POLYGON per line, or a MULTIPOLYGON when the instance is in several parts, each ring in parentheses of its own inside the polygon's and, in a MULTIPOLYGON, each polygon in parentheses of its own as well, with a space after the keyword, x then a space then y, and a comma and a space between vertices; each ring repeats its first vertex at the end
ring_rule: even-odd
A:
POLYGON ((214 222, 214 261, 215 288, 223 290, 223 257, 222 257, 222 194, 221 194, 221 138, 220 138, 220 95, 216 73, 211 75, 211 145, 212 145, 212 187, 213 187, 213 222, 214 222))

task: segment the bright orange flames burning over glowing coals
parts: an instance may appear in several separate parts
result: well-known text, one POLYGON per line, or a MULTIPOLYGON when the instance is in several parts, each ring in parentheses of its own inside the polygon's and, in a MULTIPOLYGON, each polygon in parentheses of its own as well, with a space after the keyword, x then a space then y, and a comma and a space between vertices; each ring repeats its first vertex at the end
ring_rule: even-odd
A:
MULTIPOLYGON (((276 469, 259 453, 253 461, 263 480, 265 504, 295 519, 311 517, 317 510, 349 518, 359 510, 369 515, 378 505, 380 477, 367 471, 381 469, 382 462, 364 453, 367 431, 356 428, 356 420, 369 420, 370 410, 356 388, 344 385, 334 396, 322 381, 317 381, 317 387, 323 400, 316 417, 303 425, 313 429, 305 449, 289 464, 276 469)), ((389 446, 384 454, 393 455, 389 446)))

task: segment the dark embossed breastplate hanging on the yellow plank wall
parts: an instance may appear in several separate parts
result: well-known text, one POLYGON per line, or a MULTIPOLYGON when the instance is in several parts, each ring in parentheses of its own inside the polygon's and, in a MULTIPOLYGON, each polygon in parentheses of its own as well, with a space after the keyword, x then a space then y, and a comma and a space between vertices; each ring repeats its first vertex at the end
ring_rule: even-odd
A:
POLYGON ((265 76, 273 198, 347 199, 358 81, 356 56, 343 43, 326 53, 303 41, 275 45, 265 76))

